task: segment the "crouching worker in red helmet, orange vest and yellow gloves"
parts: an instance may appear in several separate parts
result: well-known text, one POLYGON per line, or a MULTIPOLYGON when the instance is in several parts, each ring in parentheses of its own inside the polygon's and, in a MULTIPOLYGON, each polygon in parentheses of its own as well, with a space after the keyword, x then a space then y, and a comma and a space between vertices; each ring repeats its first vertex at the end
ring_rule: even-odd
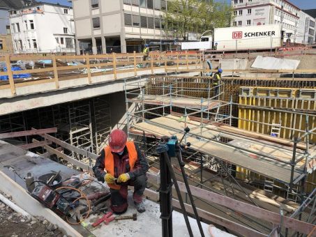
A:
POLYGON ((111 209, 116 214, 125 213, 128 208, 128 185, 134 186, 133 201, 139 213, 146 211, 142 194, 146 188, 146 171, 149 165, 140 148, 134 142, 127 142, 123 130, 113 130, 109 146, 96 159, 93 172, 98 181, 107 182, 111 192, 111 209))

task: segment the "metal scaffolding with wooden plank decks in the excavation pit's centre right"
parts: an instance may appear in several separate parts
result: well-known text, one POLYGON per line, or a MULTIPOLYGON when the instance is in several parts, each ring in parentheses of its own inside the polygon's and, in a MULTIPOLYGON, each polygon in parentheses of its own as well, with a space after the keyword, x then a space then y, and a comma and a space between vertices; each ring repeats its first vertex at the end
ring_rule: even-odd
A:
MULTIPOLYGON (((128 135, 147 137, 142 139, 144 144, 150 140, 150 137, 151 139, 171 135, 180 137, 183 129, 188 127, 190 132, 184 141, 190 142, 190 148, 193 151, 209 157, 206 162, 213 164, 214 162, 210 159, 216 158, 219 165, 213 165, 213 168, 221 167, 223 164, 221 162, 243 167, 262 177, 283 183, 287 187, 283 191, 302 199, 301 195, 305 190, 300 190, 299 194, 296 194, 294 186, 304 186, 306 176, 315 171, 316 148, 310 144, 309 139, 315 136, 315 129, 309 129, 308 126, 306 130, 286 125, 280 126, 283 130, 294 130, 303 134, 291 141, 234 128, 232 127, 233 120, 272 126, 266 122, 255 121, 251 117, 243 119, 234 116, 232 111, 234 107, 242 106, 273 112, 285 112, 285 110, 241 105, 233 102, 232 98, 228 102, 216 100, 216 98, 223 98, 225 93, 220 90, 218 96, 214 95, 215 89, 211 86, 211 82, 208 83, 209 86, 200 88, 198 79, 193 77, 190 82, 196 87, 185 85, 183 78, 176 77, 173 80, 159 77, 154 80, 147 79, 138 84, 126 84, 127 107, 135 103, 140 105, 139 110, 128 113, 128 135), (155 96, 154 93, 157 95, 155 96), (191 96, 190 93, 198 93, 206 97, 198 98, 191 96)), ((219 86, 220 89, 225 89, 227 85, 223 82, 219 86)), ((286 112, 298 116, 303 114, 288 110, 286 112)), ((313 114, 309 116, 316 118, 313 114)), ((192 155, 190 160, 198 162, 199 155, 192 155)), ((227 171, 232 169, 233 167, 228 167, 227 171)), ((223 169, 220 168, 219 171, 223 172, 223 169)), ((271 182, 271 187, 280 188, 271 182)))

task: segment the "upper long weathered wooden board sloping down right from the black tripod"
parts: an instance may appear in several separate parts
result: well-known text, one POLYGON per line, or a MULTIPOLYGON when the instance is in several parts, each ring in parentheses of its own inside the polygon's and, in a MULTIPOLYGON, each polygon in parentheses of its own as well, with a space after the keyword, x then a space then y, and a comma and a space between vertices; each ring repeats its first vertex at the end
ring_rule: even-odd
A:
MULTIPOLYGON (((182 192, 187 192, 186 185, 184 185, 184 183, 178 181, 178 184, 182 192)), ((242 201, 237 201, 230 197, 216 194, 215 192, 202 190, 201 188, 197 188, 192 185, 190 185, 190 190, 195 197, 200 197, 215 204, 225 206, 227 208, 232 208, 233 210, 239 211, 240 213, 251 215, 253 217, 266 220, 267 222, 273 222, 273 224, 280 224, 281 222, 281 216, 278 213, 266 211, 263 208, 258 208, 257 206, 246 204, 242 201)), ((315 226, 313 224, 283 216, 283 227, 294 229, 295 231, 299 231, 303 234, 309 234, 315 226)))

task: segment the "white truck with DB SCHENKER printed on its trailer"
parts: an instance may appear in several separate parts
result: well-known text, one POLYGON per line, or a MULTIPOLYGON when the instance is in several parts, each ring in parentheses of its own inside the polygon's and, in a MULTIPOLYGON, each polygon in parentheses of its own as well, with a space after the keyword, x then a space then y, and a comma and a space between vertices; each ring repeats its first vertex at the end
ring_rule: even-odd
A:
POLYGON ((214 29, 214 37, 202 36, 200 42, 181 43, 183 50, 255 50, 271 49, 281 45, 281 25, 227 27, 214 29), (212 40, 213 39, 213 40, 212 40))

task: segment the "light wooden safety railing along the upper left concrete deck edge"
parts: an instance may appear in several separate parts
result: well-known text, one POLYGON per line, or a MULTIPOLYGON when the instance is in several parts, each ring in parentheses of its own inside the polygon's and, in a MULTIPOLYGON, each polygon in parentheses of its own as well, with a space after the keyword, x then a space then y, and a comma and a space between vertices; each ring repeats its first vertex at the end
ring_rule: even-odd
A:
MULTIPOLYGON (((119 74, 128 73, 126 77, 135 77, 140 71, 148 70, 148 74, 156 72, 180 72, 183 70, 200 70, 202 56, 198 53, 190 52, 151 52, 149 57, 143 61, 144 54, 98 54, 98 55, 5 55, 0 56, 0 61, 6 63, 6 72, 0 72, 0 76, 7 76, 8 79, 0 80, 1 89, 9 89, 11 95, 16 95, 16 88, 32 84, 45 84, 54 82, 55 89, 59 89, 61 80, 86 77, 86 84, 93 83, 93 76, 113 75, 113 79, 118 79, 119 74), (41 68, 25 70, 11 70, 11 66, 16 61, 49 61, 42 63, 41 68), (74 65, 75 64, 75 65, 74 65), (133 73, 131 73, 133 72, 133 73), (17 75, 31 74, 31 79, 14 79, 17 75), (35 78, 35 79, 34 79, 35 78)), ((31 66, 29 66, 31 67, 31 66)), ((142 73, 143 75, 144 73, 142 73)))

